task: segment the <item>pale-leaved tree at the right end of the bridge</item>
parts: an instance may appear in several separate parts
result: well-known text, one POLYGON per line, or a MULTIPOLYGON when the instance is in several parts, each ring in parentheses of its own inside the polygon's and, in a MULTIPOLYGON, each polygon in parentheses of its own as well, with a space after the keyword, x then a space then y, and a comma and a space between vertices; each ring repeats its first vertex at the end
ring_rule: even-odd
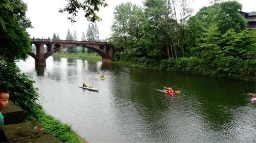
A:
POLYGON ((115 44, 117 50, 124 50, 129 54, 134 52, 137 55, 145 53, 141 52, 139 46, 142 21, 144 21, 144 13, 140 7, 132 3, 122 3, 115 7, 110 42, 115 44))

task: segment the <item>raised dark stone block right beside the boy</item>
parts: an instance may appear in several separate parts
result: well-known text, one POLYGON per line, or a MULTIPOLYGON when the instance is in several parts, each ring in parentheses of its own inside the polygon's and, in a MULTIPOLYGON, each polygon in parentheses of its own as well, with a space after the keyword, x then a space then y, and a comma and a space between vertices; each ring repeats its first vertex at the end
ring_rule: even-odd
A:
POLYGON ((6 109, 0 110, 0 112, 4 116, 4 124, 18 124, 25 122, 25 114, 24 110, 13 104, 12 101, 9 100, 9 104, 6 109))

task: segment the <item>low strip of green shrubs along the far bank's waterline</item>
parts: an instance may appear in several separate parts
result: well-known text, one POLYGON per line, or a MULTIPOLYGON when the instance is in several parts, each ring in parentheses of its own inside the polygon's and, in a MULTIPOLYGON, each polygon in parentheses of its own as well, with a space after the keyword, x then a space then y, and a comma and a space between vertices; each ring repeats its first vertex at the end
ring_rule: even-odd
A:
POLYGON ((207 62, 195 57, 184 57, 167 60, 152 60, 147 58, 119 59, 118 65, 189 73, 195 75, 221 77, 245 81, 255 81, 255 59, 241 60, 239 58, 221 57, 207 62))

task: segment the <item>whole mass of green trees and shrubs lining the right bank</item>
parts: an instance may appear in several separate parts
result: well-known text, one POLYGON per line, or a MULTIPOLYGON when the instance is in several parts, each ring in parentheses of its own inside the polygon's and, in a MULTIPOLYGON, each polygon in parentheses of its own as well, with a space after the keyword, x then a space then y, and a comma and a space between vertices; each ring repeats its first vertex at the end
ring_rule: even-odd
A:
POLYGON ((118 51, 116 61, 255 81, 255 59, 246 57, 255 57, 256 31, 246 30, 246 20, 239 12, 242 5, 214 1, 187 19, 189 7, 180 1, 184 11, 178 20, 177 2, 146 0, 144 9, 131 3, 118 5, 110 38, 118 51))

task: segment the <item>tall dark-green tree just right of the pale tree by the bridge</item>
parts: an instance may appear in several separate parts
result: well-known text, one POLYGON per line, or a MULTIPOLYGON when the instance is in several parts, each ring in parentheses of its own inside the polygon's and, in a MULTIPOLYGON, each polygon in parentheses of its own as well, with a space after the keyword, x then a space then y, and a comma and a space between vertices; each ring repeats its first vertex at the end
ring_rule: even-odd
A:
POLYGON ((145 22, 143 23, 143 41, 147 55, 153 59, 162 59, 168 44, 168 10, 164 0, 144 2, 145 22), (150 41, 150 42, 149 42, 150 41))

